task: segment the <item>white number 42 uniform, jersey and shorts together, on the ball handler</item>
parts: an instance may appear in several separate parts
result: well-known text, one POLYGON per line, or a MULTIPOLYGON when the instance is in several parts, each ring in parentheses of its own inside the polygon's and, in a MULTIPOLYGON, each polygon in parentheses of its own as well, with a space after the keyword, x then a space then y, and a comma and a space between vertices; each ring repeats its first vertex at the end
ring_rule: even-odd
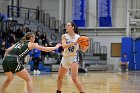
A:
MULTIPOLYGON (((75 36, 71 38, 69 34, 67 33, 67 34, 64 34, 62 37, 66 39, 66 44, 70 44, 70 43, 75 43, 75 41, 77 41, 80 36, 78 34, 75 34, 75 36)), ((69 69, 71 63, 79 61, 79 57, 77 53, 78 49, 79 49, 78 43, 74 44, 73 46, 69 48, 64 49, 63 57, 61 60, 61 65, 63 67, 65 67, 66 69, 69 69)))

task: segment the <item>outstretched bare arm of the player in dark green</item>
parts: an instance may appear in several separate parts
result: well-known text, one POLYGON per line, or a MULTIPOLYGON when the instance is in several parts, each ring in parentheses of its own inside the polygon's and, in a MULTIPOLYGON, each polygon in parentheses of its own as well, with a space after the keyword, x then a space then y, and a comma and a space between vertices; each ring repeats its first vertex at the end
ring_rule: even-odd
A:
POLYGON ((42 51, 45 51, 45 52, 51 52, 55 49, 58 49, 60 46, 61 46, 61 44, 57 44, 55 47, 44 47, 44 46, 38 45, 37 43, 31 43, 31 42, 29 42, 29 44, 28 44, 28 47, 29 47, 30 50, 33 49, 33 48, 36 48, 38 50, 42 50, 42 51))

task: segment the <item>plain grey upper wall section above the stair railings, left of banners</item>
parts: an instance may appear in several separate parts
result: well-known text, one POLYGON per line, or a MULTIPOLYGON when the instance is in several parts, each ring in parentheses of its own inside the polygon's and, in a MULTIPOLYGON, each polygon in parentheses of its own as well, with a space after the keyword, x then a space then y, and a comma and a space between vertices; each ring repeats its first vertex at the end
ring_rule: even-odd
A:
POLYGON ((40 9, 59 19, 59 0, 20 0, 20 4, 22 7, 35 9, 40 6, 40 9))

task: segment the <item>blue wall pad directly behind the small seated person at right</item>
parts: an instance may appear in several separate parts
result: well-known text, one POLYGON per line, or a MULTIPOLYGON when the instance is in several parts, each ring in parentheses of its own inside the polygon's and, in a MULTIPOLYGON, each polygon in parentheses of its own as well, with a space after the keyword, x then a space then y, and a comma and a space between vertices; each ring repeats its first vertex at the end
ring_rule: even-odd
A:
POLYGON ((122 37, 122 51, 121 59, 123 54, 127 54, 127 59, 129 60, 129 70, 135 70, 134 55, 133 55, 133 38, 132 37, 122 37))

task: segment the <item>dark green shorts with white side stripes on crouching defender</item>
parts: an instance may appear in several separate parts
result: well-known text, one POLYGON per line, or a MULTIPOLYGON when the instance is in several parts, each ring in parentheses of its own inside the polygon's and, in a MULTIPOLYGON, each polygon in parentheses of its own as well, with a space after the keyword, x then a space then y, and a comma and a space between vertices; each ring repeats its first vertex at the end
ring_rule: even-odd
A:
POLYGON ((3 59, 2 66, 4 72, 11 71, 13 74, 24 69, 21 62, 19 61, 19 58, 14 56, 6 56, 3 59))

